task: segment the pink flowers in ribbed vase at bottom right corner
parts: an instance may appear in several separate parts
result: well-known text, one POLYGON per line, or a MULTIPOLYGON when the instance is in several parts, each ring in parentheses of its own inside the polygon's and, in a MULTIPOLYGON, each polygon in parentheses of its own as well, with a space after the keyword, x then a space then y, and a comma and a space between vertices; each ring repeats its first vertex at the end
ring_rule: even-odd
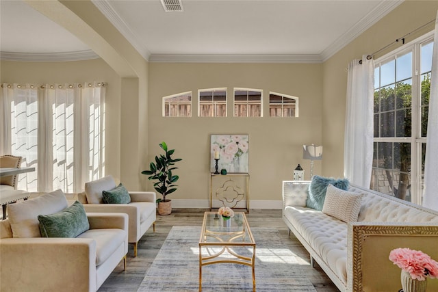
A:
POLYGON ((426 291, 427 278, 438 278, 438 262, 421 250, 396 248, 389 259, 402 269, 401 281, 404 292, 426 291))

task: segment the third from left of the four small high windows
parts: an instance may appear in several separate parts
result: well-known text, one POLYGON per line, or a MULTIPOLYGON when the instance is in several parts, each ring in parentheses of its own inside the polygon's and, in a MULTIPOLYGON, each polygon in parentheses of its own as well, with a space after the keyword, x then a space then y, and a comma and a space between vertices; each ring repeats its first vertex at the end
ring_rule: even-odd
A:
POLYGON ((261 117, 262 90, 235 88, 234 89, 234 116, 261 117))

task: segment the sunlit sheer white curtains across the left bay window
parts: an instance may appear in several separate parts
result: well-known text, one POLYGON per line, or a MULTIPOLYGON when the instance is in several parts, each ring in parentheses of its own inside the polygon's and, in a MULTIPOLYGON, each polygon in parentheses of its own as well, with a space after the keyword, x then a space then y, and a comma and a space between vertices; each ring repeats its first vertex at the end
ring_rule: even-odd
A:
POLYGON ((104 83, 3 84, 0 104, 1 155, 36 168, 18 176, 19 189, 78 193, 104 175, 104 83))

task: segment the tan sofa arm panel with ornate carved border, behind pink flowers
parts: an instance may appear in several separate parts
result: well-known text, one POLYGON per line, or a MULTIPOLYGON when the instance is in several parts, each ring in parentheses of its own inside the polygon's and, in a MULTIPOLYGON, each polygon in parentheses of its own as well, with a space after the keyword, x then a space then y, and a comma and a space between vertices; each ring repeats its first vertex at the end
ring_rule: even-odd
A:
MULTIPOLYGON (((438 260, 438 225, 395 222, 350 222, 347 243, 348 291, 399 291, 400 272, 389 261, 395 248, 422 250, 438 260)), ((438 281, 428 289, 438 291, 438 281)))

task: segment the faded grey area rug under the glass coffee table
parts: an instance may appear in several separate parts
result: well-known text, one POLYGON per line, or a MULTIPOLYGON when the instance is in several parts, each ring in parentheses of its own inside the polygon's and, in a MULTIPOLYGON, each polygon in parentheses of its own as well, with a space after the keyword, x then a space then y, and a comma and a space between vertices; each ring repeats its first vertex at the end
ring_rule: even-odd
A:
MULTIPOLYGON (((257 244, 257 291, 315 291, 300 271, 297 256, 274 228, 251 228, 257 244)), ((138 291, 198 291, 201 227, 174 226, 138 291)), ((249 251, 248 251, 249 252, 249 251)), ((219 263, 203 267, 203 291, 253 291, 251 267, 219 263)))

